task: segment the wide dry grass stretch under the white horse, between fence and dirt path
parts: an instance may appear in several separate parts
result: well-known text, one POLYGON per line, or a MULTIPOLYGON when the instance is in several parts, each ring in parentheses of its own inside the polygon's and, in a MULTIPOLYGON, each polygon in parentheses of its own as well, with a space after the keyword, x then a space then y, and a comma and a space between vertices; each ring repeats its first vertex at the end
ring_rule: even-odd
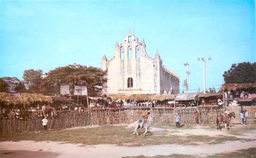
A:
MULTIPOLYGON (((183 135, 177 136, 174 130, 170 133, 167 129, 175 129, 173 125, 155 125, 164 130, 149 131, 146 137, 142 136, 144 129, 138 129, 139 136, 132 135, 133 129, 127 129, 124 126, 104 126, 95 128, 75 128, 69 130, 39 131, 18 134, 2 134, 0 141, 55 141, 64 143, 82 143, 83 145, 97 144, 117 144, 121 146, 144 146, 144 145, 162 145, 162 144, 180 144, 180 145, 202 145, 218 144, 225 141, 251 141, 251 139, 242 139, 234 136, 218 135, 211 137, 209 135, 183 135)), ((183 126, 182 130, 195 128, 183 126)))

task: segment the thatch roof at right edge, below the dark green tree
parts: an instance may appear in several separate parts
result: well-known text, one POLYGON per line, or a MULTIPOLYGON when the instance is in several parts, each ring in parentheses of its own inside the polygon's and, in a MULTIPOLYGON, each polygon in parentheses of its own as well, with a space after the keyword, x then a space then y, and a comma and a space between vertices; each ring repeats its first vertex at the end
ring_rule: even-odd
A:
POLYGON ((236 91, 236 90, 246 90, 256 88, 256 82, 253 83, 230 83, 223 84, 221 90, 223 91, 236 91))

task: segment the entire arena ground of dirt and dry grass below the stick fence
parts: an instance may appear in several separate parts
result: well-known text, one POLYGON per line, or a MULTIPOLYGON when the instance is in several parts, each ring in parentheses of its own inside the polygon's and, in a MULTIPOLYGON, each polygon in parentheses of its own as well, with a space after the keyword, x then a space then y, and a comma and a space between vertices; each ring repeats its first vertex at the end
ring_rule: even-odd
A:
POLYGON ((255 157, 255 125, 154 124, 146 137, 127 126, 74 128, 0 135, 1 158, 255 157))

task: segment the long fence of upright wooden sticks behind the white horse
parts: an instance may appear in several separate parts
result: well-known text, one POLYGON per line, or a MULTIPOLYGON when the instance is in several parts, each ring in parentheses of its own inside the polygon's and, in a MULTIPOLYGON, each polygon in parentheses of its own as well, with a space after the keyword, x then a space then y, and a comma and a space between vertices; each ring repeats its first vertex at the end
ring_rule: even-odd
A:
MULTIPOLYGON (((176 112, 180 115, 181 123, 195 123, 195 109, 153 110, 154 122, 174 123, 176 112)), ((66 129, 71 127, 84 127, 90 125, 114 125, 128 124, 142 118, 147 110, 97 110, 83 111, 78 114, 75 111, 62 111, 58 116, 48 118, 48 129, 66 129)), ((219 108, 200 108, 199 123, 216 123, 217 114, 221 114, 219 108)), ((25 131, 42 130, 42 117, 32 116, 28 119, 1 119, 0 133, 16 133, 25 131)))

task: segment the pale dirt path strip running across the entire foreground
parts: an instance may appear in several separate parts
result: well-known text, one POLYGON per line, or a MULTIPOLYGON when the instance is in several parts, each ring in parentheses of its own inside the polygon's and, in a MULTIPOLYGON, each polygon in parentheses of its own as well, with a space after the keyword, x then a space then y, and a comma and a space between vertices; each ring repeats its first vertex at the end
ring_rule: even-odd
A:
MULTIPOLYGON (((240 149, 256 147, 256 141, 241 142, 233 141, 218 145, 204 146, 182 146, 182 145, 157 145, 141 147, 125 147, 116 145, 95 145, 83 146, 81 144, 57 143, 57 142, 1 142, 0 157, 15 157, 12 154, 3 154, 3 150, 27 150, 30 152, 28 157, 39 157, 42 151, 50 152, 50 157, 55 158, 121 158, 124 156, 154 156, 170 154, 188 154, 205 157, 206 155, 218 154, 223 152, 232 152, 240 149), (37 152, 35 152, 37 151, 37 152), (114 152, 116 151, 116 152, 114 152)), ((23 151, 24 153, 25 151, 23 151)), ((17 156, 18 157, 18 156, 17 156)))

